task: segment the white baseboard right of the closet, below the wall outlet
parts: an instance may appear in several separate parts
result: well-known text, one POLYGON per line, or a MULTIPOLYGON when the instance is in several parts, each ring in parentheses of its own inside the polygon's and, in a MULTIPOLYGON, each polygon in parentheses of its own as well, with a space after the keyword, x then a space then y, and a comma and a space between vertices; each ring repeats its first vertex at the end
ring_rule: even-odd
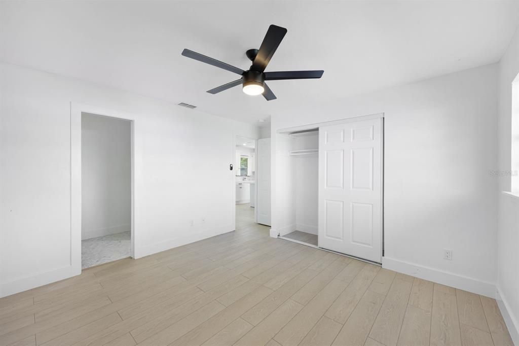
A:
POLYGON ((489 282, 461 276, 454 273, 444 272, 434 268, 424 267, 418 264, 407 263, 393 258, 383 257, 382 268, 394 270, 395 272, 416 276, 438 284, 459 288, 482 296, 494 298, 496 296, 496 285, 489 282))

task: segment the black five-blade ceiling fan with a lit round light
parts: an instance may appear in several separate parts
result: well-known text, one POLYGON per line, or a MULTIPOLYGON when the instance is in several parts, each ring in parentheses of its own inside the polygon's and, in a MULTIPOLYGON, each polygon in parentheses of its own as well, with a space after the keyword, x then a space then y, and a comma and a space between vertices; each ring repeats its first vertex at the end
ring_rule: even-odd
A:
POLYGON ((276 95, 270 90, 265 81, 278 81, 280 79, 309 79, 321 78, 324 71, 280 71, 280 72, 265 72, 265 68, 270 59, 278 49, 281 40, 286 34, 286 29, 281 26, 270 25, 267 34, 263 39, 260 49, 249 49, 245 55, 252 61, 252 65, 247 71, 243 71, 235 66, 229 65, 225 62, 206 57, 193 50, 184 49, 182 55, 191 59, 195 59, 207 64, 216 66, 218 68, 234 72, 241 77, 236 81, 229 82, 214 89, 208 90, 209 94, 217 94, 218 92, 227 90, 234 86, 243 85, 243 92, 247 95, 263 94, 267 101, 275 100, 276 95))

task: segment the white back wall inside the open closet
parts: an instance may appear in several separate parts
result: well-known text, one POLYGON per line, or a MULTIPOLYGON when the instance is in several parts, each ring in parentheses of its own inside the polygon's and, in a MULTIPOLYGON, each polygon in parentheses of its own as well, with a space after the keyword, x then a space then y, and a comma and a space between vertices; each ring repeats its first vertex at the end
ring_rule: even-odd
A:
MULTIPOLYGON (((293 150, 317 149, 319 133, 295 137, 293 150)), ((295 229, 317 234, 319 162, 317 154, 292 156, 295 179, 295 229)))

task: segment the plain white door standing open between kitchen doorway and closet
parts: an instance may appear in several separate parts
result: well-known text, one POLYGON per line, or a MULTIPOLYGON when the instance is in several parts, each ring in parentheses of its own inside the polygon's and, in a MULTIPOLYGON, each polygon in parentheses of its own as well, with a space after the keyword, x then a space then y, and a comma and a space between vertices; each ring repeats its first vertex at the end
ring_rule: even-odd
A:
POLYGON ((270 138, 258 139, 256 155, 257 223, 270 226, 270 138))

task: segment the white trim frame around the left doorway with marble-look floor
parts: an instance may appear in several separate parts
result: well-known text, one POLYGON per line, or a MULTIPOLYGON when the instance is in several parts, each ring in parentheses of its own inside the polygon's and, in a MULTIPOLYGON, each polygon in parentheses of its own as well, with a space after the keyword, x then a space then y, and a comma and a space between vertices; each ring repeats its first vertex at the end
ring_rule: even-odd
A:
POLYGON ((130 122, 130 223, 131 257, 136 258, 138 234, 135 230, 135 115, 83 103, 70 103, 71 130, 71 267, 74 275, 81 274, 81 113, 111 117, 130 122))

